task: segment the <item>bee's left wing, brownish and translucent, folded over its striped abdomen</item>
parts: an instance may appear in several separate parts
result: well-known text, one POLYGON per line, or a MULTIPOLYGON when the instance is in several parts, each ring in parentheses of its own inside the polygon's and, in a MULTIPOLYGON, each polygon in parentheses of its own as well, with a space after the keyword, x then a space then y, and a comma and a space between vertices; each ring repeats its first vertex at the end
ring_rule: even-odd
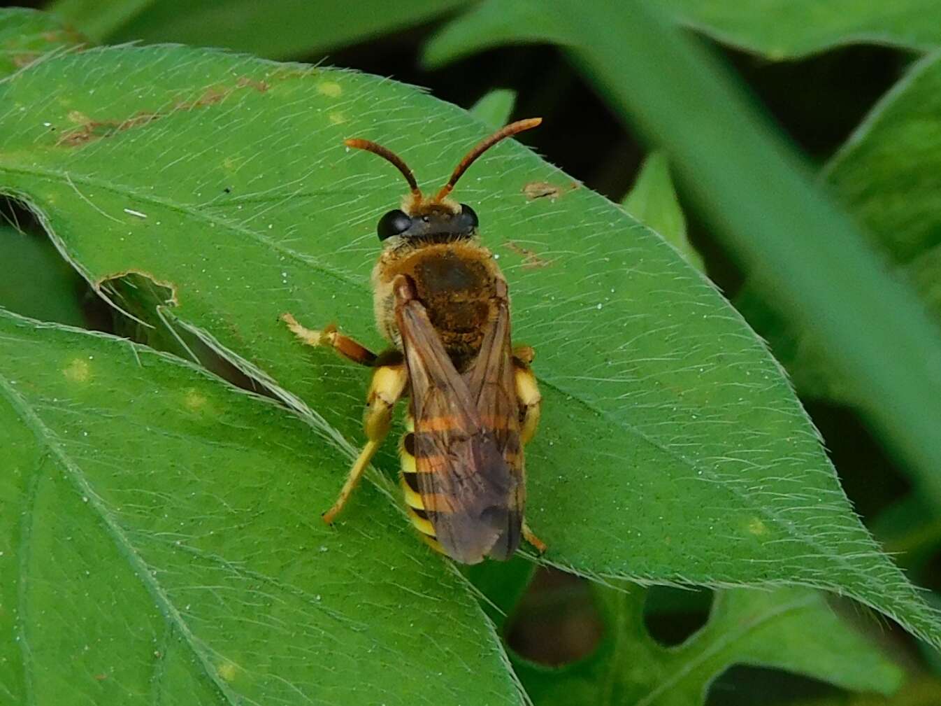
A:
POLYGON ((503 548, 496 545, 511 522, 516 477, 407 281, 396 287, 395 313, 411 383, 419 493, 428 519, 445 553, 457 561, 474 564, 491 553, 502 557, 503 548))

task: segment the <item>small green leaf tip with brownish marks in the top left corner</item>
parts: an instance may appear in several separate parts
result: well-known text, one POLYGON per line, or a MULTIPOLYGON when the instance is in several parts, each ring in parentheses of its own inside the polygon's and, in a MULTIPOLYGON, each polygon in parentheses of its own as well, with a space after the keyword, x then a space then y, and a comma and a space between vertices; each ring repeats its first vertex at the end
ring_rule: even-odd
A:
POLYGON ((48 55, 84 43, 55 17, 34 9, 0 10, 0 79, 48 55))

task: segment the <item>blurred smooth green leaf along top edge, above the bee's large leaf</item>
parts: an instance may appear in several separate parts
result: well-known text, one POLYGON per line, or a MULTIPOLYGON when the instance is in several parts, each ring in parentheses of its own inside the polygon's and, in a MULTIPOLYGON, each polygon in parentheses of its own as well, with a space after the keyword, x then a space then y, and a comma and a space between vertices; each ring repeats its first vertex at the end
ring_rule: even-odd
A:
POLYGON ((305 56, 429 22, 468 0, 59 0, 53 10, 100 40, 227 47, 271 58, 305 56))

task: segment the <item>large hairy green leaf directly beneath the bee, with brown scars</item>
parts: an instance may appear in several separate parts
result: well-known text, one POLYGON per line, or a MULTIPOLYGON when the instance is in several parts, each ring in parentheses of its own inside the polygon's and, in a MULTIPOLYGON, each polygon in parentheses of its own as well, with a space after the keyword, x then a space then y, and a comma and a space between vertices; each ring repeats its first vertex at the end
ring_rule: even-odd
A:
MULTIPOLYGON (((8 104, 40 97, 59 130, 0 117, 0 188, 32 203, 88 281, 134 271, 161 283, 175 325, 328 439, 359 443, 367 375, 279 322, 285 311, 337 321, 381 345, 375 219, 405 185, 343 138, 386 144, 432 186, 480 123, 386 79, 181 47, 91 50, 0 84, 8 104)), ((537 350, 544 410, 527 450, 527 516, 547 560, 661 582, 821 586, 941 642, 738 314, 618 206, 584 188, 529 200, 534 182, 570 178, 502 143, 458 193, 499 255, 517 340, 537 350)), ((377 465, 392 473, 387 446, 377 465)), ((312 517, 345 465, 308 463, 333 490, 306 498, 312 517)), ((355 501, 340 531, 371 527, 355 501)))

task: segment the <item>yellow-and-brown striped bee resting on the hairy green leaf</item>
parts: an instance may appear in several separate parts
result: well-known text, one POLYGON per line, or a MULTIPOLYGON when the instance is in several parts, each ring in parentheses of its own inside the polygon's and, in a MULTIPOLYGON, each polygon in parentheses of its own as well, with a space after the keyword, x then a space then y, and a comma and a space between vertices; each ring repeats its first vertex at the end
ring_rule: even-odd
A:
POLYGON ((375 355, 335 326, 305 329, 290 313, 281 316, 303 343, 332 347, 374 371, 363 415, 367 441, 324 513, 327 523, 388 435, 395 404, 407 397, 400 485, 423 539, 464 564, 508 559, 520 537, 545 551, 524 521, 523 446, 533 438, 541 402, 530 368, 534 350, 512 347, 506 280, 481 244, 473 209, 449 198, 481 154, 541 121, 518 120, 486 137, 431 198, 398 155, 369 140, 345 140, 391 162, 409 192, 376 227, 383 249, 373 269, 375 322, 389 350, 375 355))

